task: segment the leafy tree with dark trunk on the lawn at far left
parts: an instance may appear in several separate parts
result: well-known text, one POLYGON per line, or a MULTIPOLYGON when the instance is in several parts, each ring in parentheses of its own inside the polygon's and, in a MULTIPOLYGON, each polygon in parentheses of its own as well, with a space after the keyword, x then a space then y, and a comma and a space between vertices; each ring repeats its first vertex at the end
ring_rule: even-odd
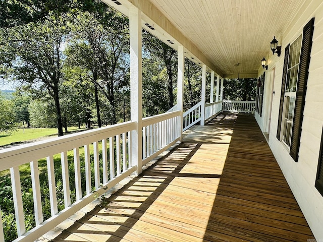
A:
POLYGON ((10 69, 3 78, 19 81, 24 90, 41 96, 43 90, 52 97, 56 107, 56 122, 59 136, 63 136, 59 100, 59 85, 62 74, 62 48, 69 32, 66 19, 47 19, 43 23, 30 23, 2 31, 2 50, 10 53, 7 59, 10 69))

